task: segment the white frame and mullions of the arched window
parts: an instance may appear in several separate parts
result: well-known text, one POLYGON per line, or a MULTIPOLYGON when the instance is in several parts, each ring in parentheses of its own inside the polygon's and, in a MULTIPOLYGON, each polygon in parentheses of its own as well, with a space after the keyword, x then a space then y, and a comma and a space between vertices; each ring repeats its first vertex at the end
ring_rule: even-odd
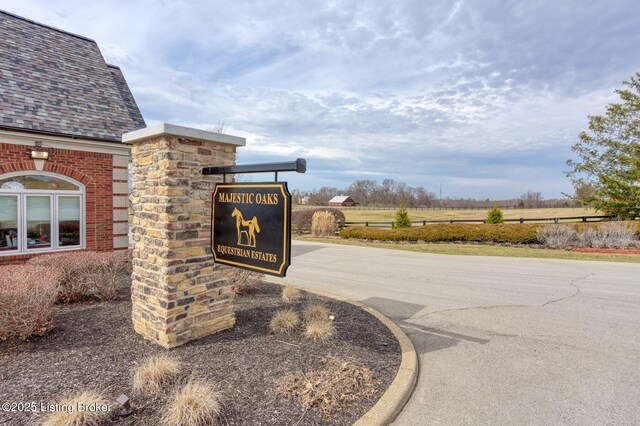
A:
POLYGON ((3 256, 16 256, 30 253, 51 253, 71 250, 81 250, 86 248, 86 188, 85 186, 75 179, 67 176, 59 175, 51 172, 41 171, 23 171, 13 172, 0 175, 0 179, 17 176, 49 176, 56 179, 61 179, 76 185, 79 189, 77 191, 70 190, 45 190, 45 189, 0 189, 0 195, 16 195, 18 197, 18 249, 6 250, 0 252, 0 257, 3 256), (27 246, 27 197, 30 195, 43 195, 49 196, 51 205, 51 246, 42 249, 29 249, 27 246), (58 197, 73 196, 80 198, 80 245, 76 246, 62 246, 58 247, 59 243, 59 227, 58 222, 58 197))

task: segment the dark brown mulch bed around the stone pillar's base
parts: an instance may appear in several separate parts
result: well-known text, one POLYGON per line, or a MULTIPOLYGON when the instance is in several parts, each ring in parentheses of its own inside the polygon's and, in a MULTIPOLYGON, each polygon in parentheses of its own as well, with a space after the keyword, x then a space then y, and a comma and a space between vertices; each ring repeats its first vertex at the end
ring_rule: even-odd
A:
MULTIPOLYGON (((300 302, 285 304, 281 287, 251 286, 236 302, 237 323, 226 330, 178 348, 170 355, 183 363, 185 378, 210 380, 221 392, 222 424, 228 425, 349 425, 366 413, 394 379, 400 347, 391 332, 353 305, 303 293, 300 302), (317 344, 301 333, 269 334, 273 313, 283 307, 300 312, 305 303, 322 300, 336 317, 338 336, 317 344), (276 392, 274 381, 289 372, 320 368, 327 356, 348 357, 373 371, 379 392, 332 417, 305 411, 276 392)), ((60 306, 56 328, 18 346, 0 344, 0 402, 59 401, 64 396, 97 389, 118 404, 131 397, 134 414, 115 418, 117 425, 154 425, 166 404, 163 397, 132 392, 133 368, 150 355, 167 351, 133 331, 131 302, 60 306)), ((0 424, 31 425, 42 414, 0 412, 0 424)))

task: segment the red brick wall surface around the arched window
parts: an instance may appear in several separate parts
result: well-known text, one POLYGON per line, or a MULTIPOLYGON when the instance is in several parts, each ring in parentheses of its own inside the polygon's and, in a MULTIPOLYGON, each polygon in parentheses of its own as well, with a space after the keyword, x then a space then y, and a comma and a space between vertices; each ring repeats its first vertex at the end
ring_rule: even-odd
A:
MULTIPOLYGON (((35 170, 33 147, 0 143, 0 175, 35 170)), ((43 171, 70 177, 85 185, 87 250, 113 250, 113 159, 111 154, 49 148, 43 171)), ((21 263, 33 254, 0 256, 0 265, 21 263)))

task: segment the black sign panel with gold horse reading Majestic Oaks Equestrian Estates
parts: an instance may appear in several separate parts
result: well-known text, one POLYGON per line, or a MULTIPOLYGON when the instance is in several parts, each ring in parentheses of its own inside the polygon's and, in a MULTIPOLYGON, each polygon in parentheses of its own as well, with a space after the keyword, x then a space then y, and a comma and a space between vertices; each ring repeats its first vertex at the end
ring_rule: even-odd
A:
POLYGON ((216 262, 285 276, 291 264, 291 194, 286 182, 219 183, 212 209, 216 262))

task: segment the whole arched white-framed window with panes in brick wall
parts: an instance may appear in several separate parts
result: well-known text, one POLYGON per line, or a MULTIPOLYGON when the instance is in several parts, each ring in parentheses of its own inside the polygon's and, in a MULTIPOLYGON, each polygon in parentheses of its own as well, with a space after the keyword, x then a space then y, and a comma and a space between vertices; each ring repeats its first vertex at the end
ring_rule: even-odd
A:
POLYGON ((84 194, 53 173, 0 175, 0 256, 83 248, 84 194))

